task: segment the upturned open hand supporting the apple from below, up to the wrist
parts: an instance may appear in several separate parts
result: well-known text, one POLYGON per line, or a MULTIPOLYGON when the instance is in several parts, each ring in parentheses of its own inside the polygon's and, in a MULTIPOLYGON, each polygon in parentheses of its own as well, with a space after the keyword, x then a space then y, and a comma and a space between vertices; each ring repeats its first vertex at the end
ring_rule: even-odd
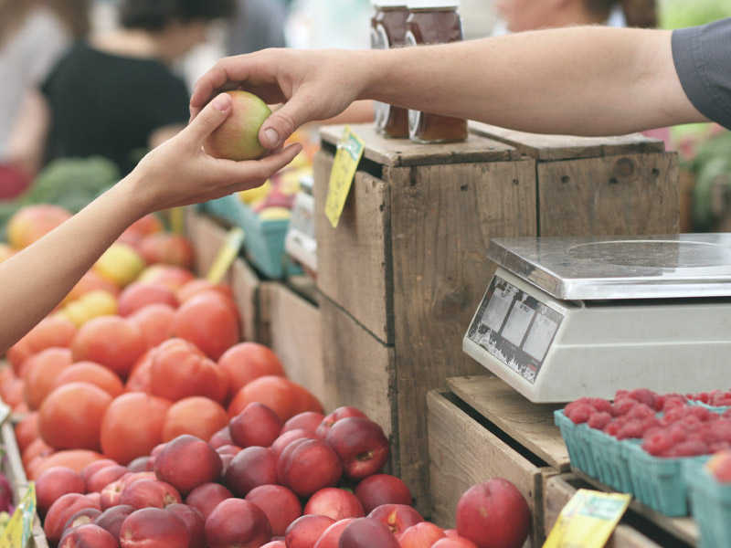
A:
POLYGON ((203 142, 231 111, 231 98, 212 100, 195 120, 175 137, 148 153, 121 184, 132 185, 132 195, 143 213, 205 202, 259 186, 292 161, 302 145, 291 144, 258 161, 219 160, 203 151, 203 142))

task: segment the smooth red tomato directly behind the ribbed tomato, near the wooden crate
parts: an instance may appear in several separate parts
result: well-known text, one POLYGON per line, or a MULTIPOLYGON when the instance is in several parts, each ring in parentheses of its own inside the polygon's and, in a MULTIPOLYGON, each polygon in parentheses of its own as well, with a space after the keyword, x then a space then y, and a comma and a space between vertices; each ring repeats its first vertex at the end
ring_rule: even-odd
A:
POLYGON ((239 340, 238 314, 217 292, 203 291, 175 311, 173 334, 217 360, 239 340))

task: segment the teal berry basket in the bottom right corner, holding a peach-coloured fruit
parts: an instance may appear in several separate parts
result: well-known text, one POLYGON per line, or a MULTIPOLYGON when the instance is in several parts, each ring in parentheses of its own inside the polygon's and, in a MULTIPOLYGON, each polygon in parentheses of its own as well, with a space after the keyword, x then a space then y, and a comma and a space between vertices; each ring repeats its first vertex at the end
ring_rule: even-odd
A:
POLYGON ((721 483, 697 461, 683 466, 700 548, 731 546, 731 483, 721 483))

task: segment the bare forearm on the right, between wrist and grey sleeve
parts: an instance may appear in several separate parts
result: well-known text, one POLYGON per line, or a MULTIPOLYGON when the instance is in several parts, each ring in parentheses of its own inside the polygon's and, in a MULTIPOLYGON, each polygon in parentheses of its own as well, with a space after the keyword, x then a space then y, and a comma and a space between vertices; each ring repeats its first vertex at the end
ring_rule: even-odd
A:
POLYGON ((669 31, 577 26, 363 54, 361 98, 526 132, 705 120, 676 76, 669 31))

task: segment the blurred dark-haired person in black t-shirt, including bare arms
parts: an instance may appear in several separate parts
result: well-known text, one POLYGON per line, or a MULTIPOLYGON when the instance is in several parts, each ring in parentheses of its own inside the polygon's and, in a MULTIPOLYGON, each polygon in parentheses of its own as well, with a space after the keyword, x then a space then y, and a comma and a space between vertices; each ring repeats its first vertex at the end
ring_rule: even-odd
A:
POLYGON ((188 121, 173 64, 233 13, 233 0, 122 0, 120 26, 79 42, 26 100, 10 154, 36 174, 49 160, 100 155, 125 175, 188 121))

